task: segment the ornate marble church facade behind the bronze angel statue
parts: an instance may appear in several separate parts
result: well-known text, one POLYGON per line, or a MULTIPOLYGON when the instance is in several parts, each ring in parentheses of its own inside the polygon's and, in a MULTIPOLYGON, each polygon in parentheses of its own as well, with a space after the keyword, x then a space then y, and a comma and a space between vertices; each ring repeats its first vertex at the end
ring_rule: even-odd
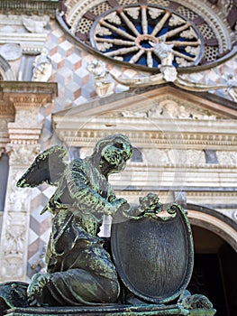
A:
MULTIPOLYGON (((89 155, 127 135, 130 203, 178 202, 193 229, 189 290, 234 315, 237 58, 234 0, 0 1, 0 281, 44 271, 55 191, 16 188, 42 150, 89 155)), ((109 236, 109 218, 101 234, 109 236)))

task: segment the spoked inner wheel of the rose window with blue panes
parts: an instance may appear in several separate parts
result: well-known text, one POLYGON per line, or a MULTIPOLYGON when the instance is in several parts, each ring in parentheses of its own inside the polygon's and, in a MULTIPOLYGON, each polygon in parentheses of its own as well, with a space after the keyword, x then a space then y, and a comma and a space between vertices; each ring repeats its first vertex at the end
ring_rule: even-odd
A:
POLYGON ((202 58, 202 36, 186 18, 159 8, 135 5, 100 16, 91 29, 92 46, 105 56, 157 68, 156 43, 173 49, 175 66, 193 66, 202 58))

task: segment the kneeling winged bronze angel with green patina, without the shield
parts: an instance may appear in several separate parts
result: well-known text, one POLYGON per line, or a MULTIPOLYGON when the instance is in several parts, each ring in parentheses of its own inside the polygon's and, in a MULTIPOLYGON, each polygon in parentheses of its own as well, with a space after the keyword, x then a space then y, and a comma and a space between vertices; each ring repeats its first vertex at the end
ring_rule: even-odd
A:
MULTIPOLYGON (((65 163, 66 154, 63 146, 50 147, 17 182, 22 188, 42 182, 57 188, 42 210, 53 214, 47 273, 34 274, 30 284, 14 283, 14 293, 9 292, 13 283, 0 284, 2 311, 14 306, 95 305, 115 302, 119 296, 114 264, 97 233, 104 215, 113 216, 121 209, 128 214, 131 209, 126 200, 116 198, 108 176, 123 171, 132 145, 125 135, 109 135, 85 159, 65 163), (19 300, 19 295, 24 299, 19 300)), ((144 211, 148 204, 154 208, 158 202, 156 195, 143 198, 135 212, 144 211)))

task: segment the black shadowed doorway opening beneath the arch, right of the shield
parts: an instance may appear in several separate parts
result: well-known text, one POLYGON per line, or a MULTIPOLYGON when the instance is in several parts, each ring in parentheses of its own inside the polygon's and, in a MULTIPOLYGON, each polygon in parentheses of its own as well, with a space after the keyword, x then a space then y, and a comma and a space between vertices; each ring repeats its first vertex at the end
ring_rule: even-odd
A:
POLYGON ((201 293, 214 304, 216 316, 235 316, 237 311, 237 253, 222 237, 192 226, 195 265, 188 290, 201 293))

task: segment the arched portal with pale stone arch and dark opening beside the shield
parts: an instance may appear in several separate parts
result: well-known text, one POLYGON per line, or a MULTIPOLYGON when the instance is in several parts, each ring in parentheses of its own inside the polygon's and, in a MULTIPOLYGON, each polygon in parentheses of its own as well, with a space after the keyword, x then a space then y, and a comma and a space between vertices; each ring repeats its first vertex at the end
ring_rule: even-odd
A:
POLYGON ((205 294, 216 316, 234 316, 237 310, 237 229, 231 218, 196 205, 188 205, 195 265, 188 285, 191 293, 205 294))

